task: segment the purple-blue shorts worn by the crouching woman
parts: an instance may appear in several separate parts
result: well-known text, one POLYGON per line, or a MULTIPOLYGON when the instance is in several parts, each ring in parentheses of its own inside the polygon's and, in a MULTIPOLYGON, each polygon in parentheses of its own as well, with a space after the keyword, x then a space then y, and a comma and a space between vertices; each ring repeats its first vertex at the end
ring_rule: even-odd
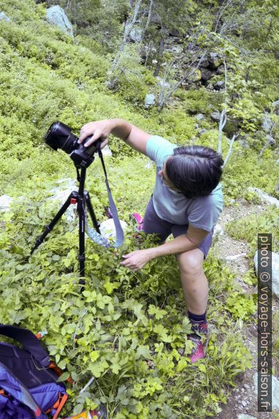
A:
MULTIPOLYGON (((188 224, 179 226, 178 224, 169 223, 169 221, 164 221, 162 218, 157 216, 157 213, 154 210, 153 200, 150 199, 147 209, 144 214, 143 220, 143 231, 146 234, 158 234, 160 241, 165 241, 166 238, 172 234, 175 237, 181 236, 181 234, 186 234, 188 229, 188 224)), ((212 244, 214 228, 209 232, 206 238, 199 244, 197 247, 204 253, 204 259, 209 253, 209 248, 212 244)))

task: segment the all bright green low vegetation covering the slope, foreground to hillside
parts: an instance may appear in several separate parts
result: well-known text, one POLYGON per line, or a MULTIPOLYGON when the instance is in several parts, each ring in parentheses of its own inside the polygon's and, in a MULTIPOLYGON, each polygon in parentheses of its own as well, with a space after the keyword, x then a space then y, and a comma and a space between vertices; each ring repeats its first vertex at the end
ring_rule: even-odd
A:
MULTIPOLYGON (((44 6, 33 0, 1 0, 0 9, 11 18, 0 21, 0 193, 14 197, 0 223, 1 323, 48 331, 43 342, 65 370, 63 378, 70 375, 75 382, 68 390, 65 413, 102 403, 110 417, 118 419, 216 416, 237 375, 251 365, 241 328, 243 321, 253 322, 255 298, 243 296, 233 284, 233 274, 209 253, 208 357, 190 365, 189 342, 186 355, 180 355, 189 321, 174 257, 153 260, 137 273, 120 267, 122 254, 139 246, 129 214, 143 212, 152 193, 154 168, 147 167, 147 158, 116 138, 110 141, 108 176, 128 228, 118 251, 86 241, 83 291, 78 284, 75 220, 68 223, 63 217, 38 251, 31 258, 28 254, 58 210, 51 189, 60 178, 75 179, 68 156, 43 143, 53 121, 67 123, 78 135, 88 121, 120 117, 181 145, 196 136, 191 114, 208 113, 209 104, 219 104, 220 96, 205 89, 181 90, 177 108, 147 110, 144 95, 154 84, 147 68, 138 69, 144 83, 140 89, 136 83, 122 84, 112 93, 105 85, 111 56, 100 44, 94 41, 88 49, 84 45, 90 39, 70 39, 47 24, 44 6), (93 384, 80 393, 92 376, 93 384)), ((209 131, 198 142, 216 149, 218 126, 210 121, 204 126, 209 131)), ((223 153, 227 151, 223 138, 223 153)), ((253 201, 247 192, 251 185, 273 193, 272 160, 268 150, 258 158, 257 147, 246 150, 236 143, 223 173, 225 203, 238 197, 253 201)), ((107 196, 97 158, 88 169, 86 188, 102 221, 107 196)), ((277 219, 278 213, 270 213, 270 224, 263 229, 272 228, 277 219)), ((240 238, 243 231, 252 242, 256 228, 243 220, 236 234, 240 238)), ((154 246, 154 238, 144 237, 141 246, 154 246)))

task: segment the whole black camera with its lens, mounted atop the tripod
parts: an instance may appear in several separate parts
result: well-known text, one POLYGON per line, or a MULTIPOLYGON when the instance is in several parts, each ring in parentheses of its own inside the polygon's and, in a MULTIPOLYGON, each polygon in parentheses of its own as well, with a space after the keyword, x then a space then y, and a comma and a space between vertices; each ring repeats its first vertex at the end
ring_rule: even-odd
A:
POLYGON ((98 140, 89 147, 79 144, 78 137, 72 133, 71 128, 60 121, 52 123, 44 136, 44 140, 53 150, 57 151, 58 148, 61 148, 65 153, 70 154, 70 158, 77 167, 90 166, 94 161, 94 153, 100 150, 101 143, 98 140))

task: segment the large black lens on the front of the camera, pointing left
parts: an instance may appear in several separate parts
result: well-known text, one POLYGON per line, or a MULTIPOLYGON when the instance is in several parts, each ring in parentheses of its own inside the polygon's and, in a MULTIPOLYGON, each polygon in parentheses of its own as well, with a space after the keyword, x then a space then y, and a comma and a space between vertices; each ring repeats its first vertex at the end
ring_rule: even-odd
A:
POLYGON ((44 139, 48 146, 56 151, 61 148, 69 154, 75 148, 78 148, 78 137, 71 132, 68 125, 60 121, 53 122, 44 139))

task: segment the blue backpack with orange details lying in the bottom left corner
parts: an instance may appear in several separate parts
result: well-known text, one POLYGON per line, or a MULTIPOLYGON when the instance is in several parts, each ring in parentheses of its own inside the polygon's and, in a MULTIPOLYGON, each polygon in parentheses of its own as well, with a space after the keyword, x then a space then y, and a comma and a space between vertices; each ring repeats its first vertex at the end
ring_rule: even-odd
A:
POLYGON ((0 343, 0 419, 56 419, 68 395, 41 342, 14 325, 0 325, 0 335, 22 345, 0 343))

